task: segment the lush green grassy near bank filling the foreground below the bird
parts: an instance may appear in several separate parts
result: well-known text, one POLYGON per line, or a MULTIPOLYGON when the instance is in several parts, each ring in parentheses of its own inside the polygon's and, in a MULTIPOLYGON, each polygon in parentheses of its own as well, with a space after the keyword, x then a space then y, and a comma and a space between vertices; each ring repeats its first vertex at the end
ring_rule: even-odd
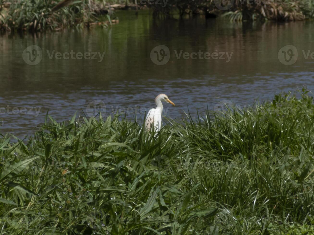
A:
POLYGON ((275 96, 167 124, 46 124, 0 140, 0 234, 307 234, 314 104, 275 96), (14 139, 15 142, 14 143, 14 139))

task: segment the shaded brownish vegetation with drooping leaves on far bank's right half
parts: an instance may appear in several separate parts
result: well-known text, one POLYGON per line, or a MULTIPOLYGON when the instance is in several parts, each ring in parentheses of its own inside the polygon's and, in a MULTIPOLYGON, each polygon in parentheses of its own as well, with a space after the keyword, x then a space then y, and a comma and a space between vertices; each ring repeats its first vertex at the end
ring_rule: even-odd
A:
POLYGON ((211 0, 189 1, 168 0, 164 7, 157 4, 147 4, 156 11, 170 12, 178 9, 180 15, 205 14, 207 17, 223 16, 231 21, 296 21, 314 17, 313 0, 211 0))

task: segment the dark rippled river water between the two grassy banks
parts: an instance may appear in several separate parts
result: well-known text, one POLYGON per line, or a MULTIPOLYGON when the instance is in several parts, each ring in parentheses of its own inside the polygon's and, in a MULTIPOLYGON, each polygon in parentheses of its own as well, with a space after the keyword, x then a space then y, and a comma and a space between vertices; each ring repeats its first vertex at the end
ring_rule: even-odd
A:
POLYGON ((180 119, 187 110, 245 107, 314 88, 314 22, 117 16, 109 28, 2 34, 0 132, 33 134, 47 111, 57 121, 76 111, 143 118, 160 93, 176 104, 165 104, 164 114, 180 119))

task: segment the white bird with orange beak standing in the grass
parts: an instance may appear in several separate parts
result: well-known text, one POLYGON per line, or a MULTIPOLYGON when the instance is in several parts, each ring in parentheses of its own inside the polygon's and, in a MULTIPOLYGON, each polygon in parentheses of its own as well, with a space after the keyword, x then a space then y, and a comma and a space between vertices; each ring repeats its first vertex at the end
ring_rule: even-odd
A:
POLYGON ((145 130, 153 128, 155 132, 158 132, 161 128, 161 113, 162 113, 162 101, 171 103, 173 106, 175 104, 169 100, 165 94, 160 94, 155 98, 156 108, 152 108, 148 111, 145 119, 145 130))

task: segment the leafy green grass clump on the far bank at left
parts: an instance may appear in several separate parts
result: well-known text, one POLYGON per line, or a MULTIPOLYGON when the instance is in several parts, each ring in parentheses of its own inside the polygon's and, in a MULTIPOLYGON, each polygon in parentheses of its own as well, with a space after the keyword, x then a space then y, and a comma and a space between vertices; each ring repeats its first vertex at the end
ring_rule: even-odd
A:
MULTIPOLYGON (((60 30, 69 27, 89 27, 91 23, 99 21, 88 0, 73 0, 68 6, 63 6, 54 11, 54 7, 62 1, 7 0, 11 3, 10 7, 0 8, 0 29, 6 31, 28 30, 32 32, 47 29, 60 30)), ((106 26, 104 23, 102 25, 106 26)))

